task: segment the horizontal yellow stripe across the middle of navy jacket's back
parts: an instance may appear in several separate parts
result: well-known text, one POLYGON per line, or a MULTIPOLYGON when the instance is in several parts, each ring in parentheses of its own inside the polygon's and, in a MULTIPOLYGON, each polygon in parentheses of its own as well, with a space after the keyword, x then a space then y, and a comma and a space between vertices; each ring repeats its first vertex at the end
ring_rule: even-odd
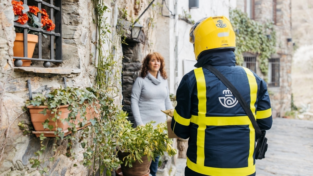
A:
MULTIPOLYGON (((248 116, 203 117, 191 115, 190 122, 200 126, 252 125, 248 116)), ((198 130, 199 131, 199 130, 198 130)))

